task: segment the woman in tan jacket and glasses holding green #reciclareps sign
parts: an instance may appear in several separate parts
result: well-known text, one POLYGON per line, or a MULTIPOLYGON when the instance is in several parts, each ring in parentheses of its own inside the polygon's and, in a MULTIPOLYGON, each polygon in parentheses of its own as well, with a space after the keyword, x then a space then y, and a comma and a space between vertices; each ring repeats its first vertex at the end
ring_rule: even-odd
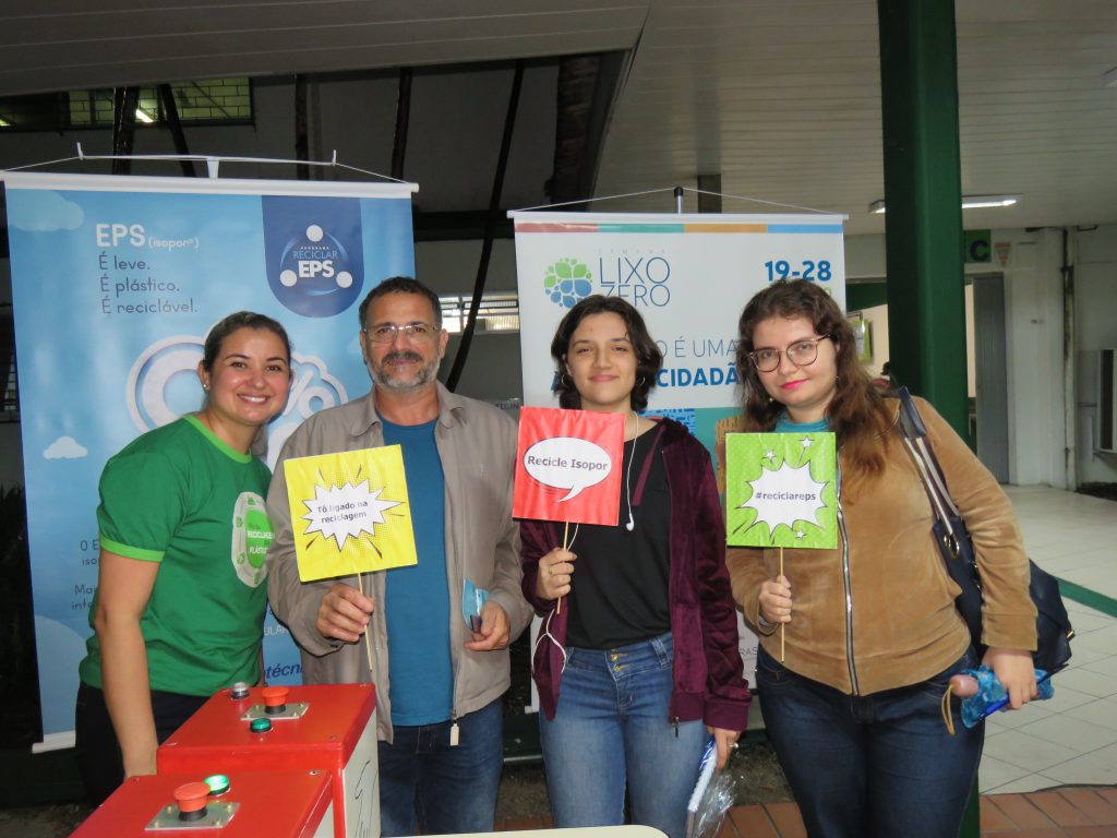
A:
MULTIPOLYGON (((841 310, 810 282, 776 282, 748 302, 737 372, 746 431, 838 439, 838 547, 784 551, 783 575, 777 550, 732 549, 727 558, 734 597, 761 639, 768 740, 808 834, 955 836, 984 729, 966 729, 952 697, 952 736, 941 703, 949 677, 982 661, 897 430, 899 402, 873 385, 841 310)), ((965 442, 927 402, 918 406, 977 551, 984 663, 1016 708, 1035 695, 1035 609, 1012 507, 965 442)))

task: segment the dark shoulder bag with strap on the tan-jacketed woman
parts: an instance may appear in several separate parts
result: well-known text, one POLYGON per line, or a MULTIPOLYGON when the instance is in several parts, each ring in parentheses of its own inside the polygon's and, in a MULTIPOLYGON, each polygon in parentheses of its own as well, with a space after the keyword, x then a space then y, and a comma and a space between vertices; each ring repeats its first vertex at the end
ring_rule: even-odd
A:
MULTIPOLYGON (((974 647, 984 655, 985 647, 981 642, 981 574, 977 572, 977 558, 974 554, 970 531, 951 497, 935 453, 927 444, 927 428, 916 410, 911 396, 906 387, 897 390, 895 394, 900 400, 899 428, 904 445, 915 461, 924 488, 927 489, 927 497, 930 498, 930 505, 935 510, 935 523, 932 526, 935 544, 943 555, 943 561, 946 562, 951 579, 962 589, 954 603, 970 628, 974 647)), ((1075 629, 1071 628, 1070 618, 1067 617, 1067 607, 1062 603, 1058 580, 1031 560, 1029 566, 1031 582, 1028 592, 1039 611, 1035 618, 1038 648, 1032 653, 1032 659, 1037 669, 1054 674, 1070 660, 1070 640, 1075 636, 1075 629)))

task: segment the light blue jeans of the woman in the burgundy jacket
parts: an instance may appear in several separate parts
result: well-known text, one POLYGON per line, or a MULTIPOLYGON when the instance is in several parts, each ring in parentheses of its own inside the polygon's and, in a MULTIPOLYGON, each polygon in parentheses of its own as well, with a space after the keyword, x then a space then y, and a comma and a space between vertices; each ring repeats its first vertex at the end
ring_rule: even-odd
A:
POLYGON ((672 648, 668 634, 617 649, 566 649, 555 717, 540 714, 556 827, 623 823, 627 781, 633 822, 682 838, 709 736, 700 721, 668 717, 672 648))

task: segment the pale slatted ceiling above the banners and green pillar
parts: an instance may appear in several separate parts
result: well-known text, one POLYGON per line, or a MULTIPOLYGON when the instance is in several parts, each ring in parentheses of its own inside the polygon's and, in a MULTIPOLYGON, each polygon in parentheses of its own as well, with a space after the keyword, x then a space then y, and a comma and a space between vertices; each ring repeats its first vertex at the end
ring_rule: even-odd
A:
MULTIPOLYGON (((958 0, 956 18, 963 192, 1022 196, 966 211, 966 225, 1117 222, 1117 87, 1104 86, 1117 2, 958 0)), ((632 54, 599 197, 716 174, 729 196, 847 213, 850 232, 884 229, 867 211, 884 197, 876 0, 9 0, 0 94, 613 49, 632 54)))

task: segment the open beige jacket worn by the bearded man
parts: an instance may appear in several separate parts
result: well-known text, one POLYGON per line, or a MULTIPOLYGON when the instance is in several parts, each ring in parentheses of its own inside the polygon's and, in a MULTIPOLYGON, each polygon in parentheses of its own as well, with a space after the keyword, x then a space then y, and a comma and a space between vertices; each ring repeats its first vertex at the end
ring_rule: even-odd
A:
MULTIPOLYGON (((438 385, 439 416, 435 430, 446 478, 446 575, 450 593, 450 653, 454 666, 454 715, 460 717, 498 698, 509 686, 508 650, 471 651, 461 617, 466 578, 489 591, 512 622, 515 639, 531 619, 521 593, 519 525, 512 518, 512 477, 516 458, 516 425, 496 408, 455 396, 438 385)), ((268 551, 268 599, 276 617, 290 629, 303 658, 303 683, 376 685, 380 739, 391 742, 388 679, 388 632, 384 572, 364 577, 365 593, 376 601, 370 623, 373 670, 364 641, 344 644, 325 638, 315 626, 318 606, 330 587, 341 581, 354 588, 356 577, 303 583, 298 579, 292 537, 290 507, 283 463, 293 457, 376 448, 383 428, 372 393, 308 418, 290 436, 275 467, 268 491, 268 514, 275 540, 268 551)), ((416 619, 422 619, 416 615, 416 619)))

